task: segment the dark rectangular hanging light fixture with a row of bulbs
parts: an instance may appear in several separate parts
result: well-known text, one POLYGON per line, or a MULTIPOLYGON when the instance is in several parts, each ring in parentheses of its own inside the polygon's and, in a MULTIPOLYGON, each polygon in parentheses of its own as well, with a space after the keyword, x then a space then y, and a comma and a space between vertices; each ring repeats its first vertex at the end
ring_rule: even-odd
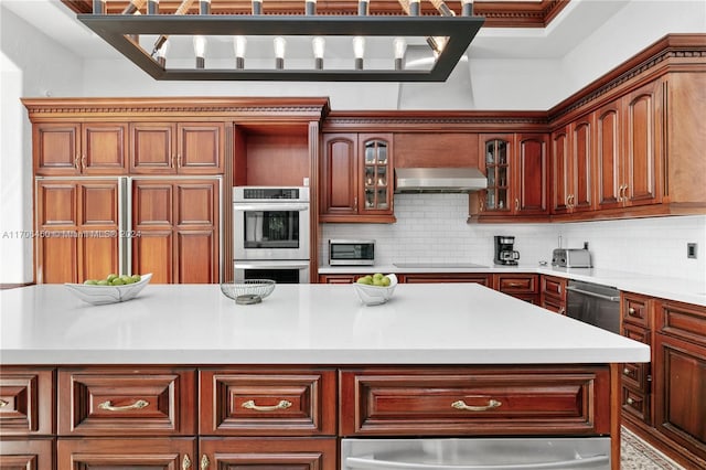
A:
MULTIPOLYGON (((460 14, 443 0, 431 0, 438 14, 428 14, 428 11, 422 14, 419 0, 399 0, 399 14, 371 14, 368 0, 359 0, 357 14, 317 14, 315 0, 302 0, 304 14, 264 14, 263 1, 250 1, 252 6, 246 7, 252 10, 250 14, 222 14, 215 10, 217 3, 212 6, 212 0, 197 0, 197 9, 196 0, 182 0, 176 10, 169 12, 164 8, 160 10, 159 0, 130 0, 122 13, 115 9, 108 13, 104 0, 94 0, 94 13, 78 14, 77 19, 156 79, 309 82, 443 82, 484 21, 473 15, 472 0, 457 3, 460 14), (171 50, 176 53, 170 55, 167 66, 167 51, 162 49, 170 36, 193 41, 195 67, 183 66, 184 61, 178 58, 182 47, 173 43, 171 50), (212 44, 208 67, 205 66, 206 38, 212 44), (233 55, 225 62, 216 56, 223 42, 221 38, 233 44, 229 54, 235 52, 235 66, 233 55), (352 68, 351 62, 344 65, 346 61, 339 60, 335 52, 338 42, 346 38, 347 47, 353 44, 352 68), (248 41, 254 44, 253 51, 263 41, 272 41, 274 68, 245 67, 248 41), (308 61, 313 53, 313 68, 306 57, 297 56, 300 49, 296 41, 309 42, 308 61), (293 52, 288 55, 286 68, 288 42, 293 52), (425 43, 430 47, 431 65, 405 67, 407 45, 425 43), (327 61, 328 68, 323 67, 324 44, 333 51, 330 53, 333 58, 327 61), (371 56, 364 61, 366 46, 371 56), (387 54, 394 56, 388 55, 385 61, 378 55, 381 51, 389 51, 387 54)), ((269 51, 271 54, 272 50, 269 51)), ((347 51, 350 54, 351 50, 347 51)), ((253 58, 248 64, 263 62, 255 52, 248 53, 248 57, 253 58)), ((271 55, 269 57, 271 60, 271 55)))

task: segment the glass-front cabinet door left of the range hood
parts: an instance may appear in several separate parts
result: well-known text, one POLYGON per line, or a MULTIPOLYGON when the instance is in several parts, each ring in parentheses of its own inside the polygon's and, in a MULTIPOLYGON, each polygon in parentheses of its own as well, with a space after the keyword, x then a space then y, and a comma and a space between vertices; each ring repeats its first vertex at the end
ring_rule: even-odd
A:
POLYGON ((363 142, 363 210, 389 209, 389 142, 367 139, 363 142))

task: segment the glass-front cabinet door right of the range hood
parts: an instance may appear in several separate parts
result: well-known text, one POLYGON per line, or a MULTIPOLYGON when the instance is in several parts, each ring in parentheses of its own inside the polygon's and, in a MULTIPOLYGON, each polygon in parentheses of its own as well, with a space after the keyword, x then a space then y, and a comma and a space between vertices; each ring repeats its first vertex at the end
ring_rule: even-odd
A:
POLYGON ((512 136, 493 136, 483 139, 483 159, 488 189, 483 211, 510 211, 510 184, 512 180, 510 158, 512 136))

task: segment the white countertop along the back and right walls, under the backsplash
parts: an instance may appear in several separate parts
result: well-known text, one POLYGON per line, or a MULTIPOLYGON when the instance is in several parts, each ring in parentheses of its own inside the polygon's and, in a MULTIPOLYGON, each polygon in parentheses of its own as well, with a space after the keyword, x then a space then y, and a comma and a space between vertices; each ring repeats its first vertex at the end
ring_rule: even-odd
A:
MULTIPOLYGON (((459 261, 460 264, 460 261, 459 261)), ((470 263, 469 263, 470 265, 470 263)), ((597 268, 557 268, 553 266, 520 265, 520 266, 488 266, 488 267, 415 267, 399 268, 394 265, 376 266, 320 266, 319 274, 359 274, 359 273, 536 273, 558 276, 567 279, 612 286, 619 290, 643 293, 661 299, 676 300, 706 307, 706 282, 691 279, 675 279, 659 275, 642 275, 597 268)))

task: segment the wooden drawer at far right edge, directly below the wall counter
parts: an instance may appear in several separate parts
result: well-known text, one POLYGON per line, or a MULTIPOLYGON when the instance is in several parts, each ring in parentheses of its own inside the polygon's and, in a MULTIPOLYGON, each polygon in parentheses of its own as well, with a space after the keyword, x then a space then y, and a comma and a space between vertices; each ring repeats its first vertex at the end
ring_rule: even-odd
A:
POLYGON ((657 308, 657 328, 664 334, 706 345, 706 307, 663 301, 657 308))

